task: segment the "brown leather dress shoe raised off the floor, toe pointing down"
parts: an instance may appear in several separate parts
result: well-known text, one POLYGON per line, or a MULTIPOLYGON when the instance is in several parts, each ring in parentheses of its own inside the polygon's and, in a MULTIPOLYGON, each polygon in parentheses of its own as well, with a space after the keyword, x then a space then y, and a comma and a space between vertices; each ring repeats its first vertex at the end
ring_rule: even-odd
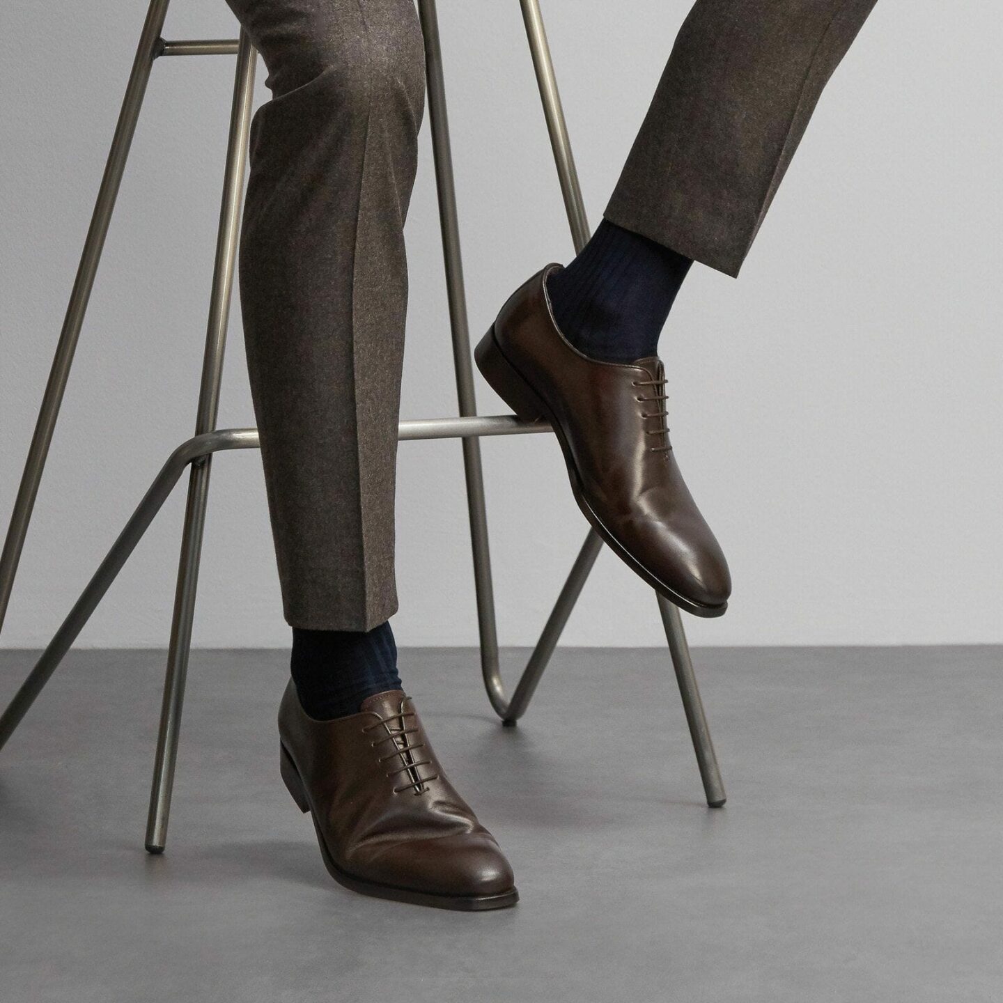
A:
POLYGON ((551 423, 575 499, 610 548, 677 606, 720 616, 731 579, 672 453, 662 363, 598 362, 571 345, 545 284, 559 268, 516 290, 477 345, 477 368, 519 417, 551 423))

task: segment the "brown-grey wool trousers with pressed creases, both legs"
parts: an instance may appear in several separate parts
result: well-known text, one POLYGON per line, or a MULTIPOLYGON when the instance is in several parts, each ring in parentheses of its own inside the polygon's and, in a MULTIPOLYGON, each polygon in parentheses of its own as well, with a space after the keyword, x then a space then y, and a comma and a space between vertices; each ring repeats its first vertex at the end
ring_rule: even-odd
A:
MULTIPOLYGON (((227 2, 273 95, 252 123, 240 285, 286 619, 369 630, 397 608, 421 30, 412 0, 227 2)), ((605 217, 737 275, 876 2, 697 0, 605 217)))

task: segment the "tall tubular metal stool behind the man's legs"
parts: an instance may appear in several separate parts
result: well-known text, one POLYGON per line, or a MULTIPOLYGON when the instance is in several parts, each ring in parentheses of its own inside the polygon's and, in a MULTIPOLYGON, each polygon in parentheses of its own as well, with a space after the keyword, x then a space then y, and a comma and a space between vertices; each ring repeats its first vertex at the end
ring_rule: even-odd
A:
MULTIPOLYGON (((49 642, 48 647, 4 711, 3 716, 0 717, 0 747, 2 747, 83 629, 91 613, 181 478, 185 468, 191 466, 188 506, 185 512, 181 562, 178 572, 178 589, 175 597, 163 687, 163 704, 160 712, 156 759, 146 823, 145 846, 146 850, 152 854, 161 853, 166 841, 168 816, 171 808, 175 762, 178 755, 179 728, 192 642, 192 620, 195 612, 199 560, 202 551, 213 454, 224 449, 257 448, 259 444, 258 432, 254 428, 218 429, 216 427, 223 353, 237 254, 237 236, 243 198, 244 166, 247 159, 257 54, 247 34, 243 31, 236 41, 215 39, 164 41, 161 37, 161 31, 169 2, 170 0, 150 0, 146 12, 145 23, 125 88, 125 97, 122 101, 104 175, 101 179, 101 187, 98 191, 90 229, 87 233, 76 280, 70 295, 52 370, 42 398, 38 421, 14 505, 3 553, 0 555, 0 625, 2 625, 49 443, 59 414, 63 391, 73 361, 77 337, 83 325, 87 301, 93 287, 101 249, 107 234, 153 62, 159 56, 236 54, 237 75, 230 118, 223 205, 220 212, 216 261, 213 270, 209 327, 196 416, 196 434, 183 442, 168 458, 132 517, 125 524, 118 539, 70 610, 69 615, 49 642)), ((554 149, 554 158, 568 213, 568 221, 571 225, 575 248, 581 250, 589 239, 589 228, 582 203, 582 194, 579 190, 578 175, 575 171, 575 162, 568 141, 568 130, 561 108, 557 81, 554 77, 547 35, 541 18, 540 3, 539 0, 520 0, 520 3, 526 22, 530 51, 533 56, 544 114, 554 149)), ((512 726, 526 713, 537 684, 557 647, 568 617, 571 615, 582 587, 585 585, 589 572, 599 555, 602 542, 594 531, 589 532, 515 693, 509 700, 506 697, 498 667, 494 597, 487 548, 487 522, 484 512, 479 438, 484 435, 545 432, 550 431, 550 426, 543 422, 520 421, 514 415, 487 417, 476 414, 435 0, 418 0, 418 12, 425 43, 428 112, 435 161, 439 221, 442 230, 442 250, 445 260, 449 326, 452 334, 459 416, 402 421, 398 437, 401 440, 459 438, 462 442, 467 508, 470 519, 470 540, 473 552, 477 621, 480 634, 481 672, 491 706, 501 718, 503 723, 512 726)), ((689 648, 686 643, 686 635, 683 632, 679 610, 661 596, 658 597, 658 606, 665 625, 669 651, 672 655, 676 678, 682 694, 683 707, 696 750, 707 803, 712 807, 719 807, 725 800, 724 786, 721 782, 717 759, 714 755, 710 732, 700 701, 700 693, 693 675, 693 665, 690 661, 689 648)))

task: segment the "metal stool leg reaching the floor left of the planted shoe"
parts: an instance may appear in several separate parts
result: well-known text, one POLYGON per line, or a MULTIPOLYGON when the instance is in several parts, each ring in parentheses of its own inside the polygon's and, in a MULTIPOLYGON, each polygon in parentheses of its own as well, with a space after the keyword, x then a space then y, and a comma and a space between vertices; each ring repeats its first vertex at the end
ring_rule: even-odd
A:
MULTIPOLYGON (((210 296, 209 325, 206 353, 203 361, 202 386, 196 418, 196 434, 216 427, 220 403, 220 381, 226 348, 227 324, 237 259, 240 210, 244 196, 244 166, 248 153, 248 132, 254 97, 254 74, 257 53, 243 30, 237 52, 237 72, 234 99, 230 115, 227 142, 227 164, 224 175, 223 203, 213 268, 213 290, 210 296)), ((156 759, 153 782, 149 792, 149 812, 146 817, 146 850, 163 852, 166 843, 171 793, 174 786, 175 763, 178 758, 178 736, 181 728, 182 704, 185 699, 185 679, 192 646, 192 620, 195 616, 196 589, 199 582, 199 560, 202 554, 203 531, 206 525, 206 503, 209 496, 209 474, 212 456, 192 464, 189 480, 185 527, 182 533, 182 553, 178 569, 178 589, 175 594, 168 668, 163 681, 163 702, 160 727, 156 739, 156 759)))

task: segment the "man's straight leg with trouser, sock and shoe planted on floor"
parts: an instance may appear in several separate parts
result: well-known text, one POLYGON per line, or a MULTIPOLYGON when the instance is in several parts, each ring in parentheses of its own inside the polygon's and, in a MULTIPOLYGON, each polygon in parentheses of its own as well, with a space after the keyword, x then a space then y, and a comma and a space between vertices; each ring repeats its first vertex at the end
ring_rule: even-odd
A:
POLYGON ((269 70, 240 281, 293 680, 282 775, 336 880, 455 909, 516 899, 400 689, 394 473, 403 225, 424 104, 411 0, 228 0, 269 70))

